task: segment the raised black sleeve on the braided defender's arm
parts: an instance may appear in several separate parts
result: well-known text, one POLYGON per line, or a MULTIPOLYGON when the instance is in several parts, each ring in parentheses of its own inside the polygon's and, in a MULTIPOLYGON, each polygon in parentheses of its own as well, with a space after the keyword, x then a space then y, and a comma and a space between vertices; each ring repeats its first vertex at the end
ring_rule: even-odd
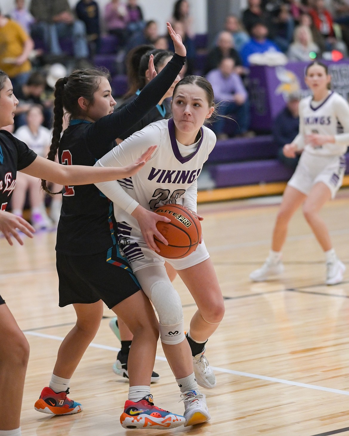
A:
POLYGON ((156 106, 175 81, 184 63, 185 57, 175 54, 132 102, 110 115, 103 116, 96 123, 91 123, 87 137, 91 152, 94 153, 95 147, 98 150, 101 142, 110 143, 120 137, 156 106))

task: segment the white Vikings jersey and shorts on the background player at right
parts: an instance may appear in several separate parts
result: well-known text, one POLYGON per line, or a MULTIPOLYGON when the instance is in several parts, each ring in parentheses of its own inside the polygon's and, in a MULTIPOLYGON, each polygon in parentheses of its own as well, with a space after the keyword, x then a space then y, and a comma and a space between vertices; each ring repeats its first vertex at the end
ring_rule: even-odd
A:
POLYGON ((307 195, 322 182, 334 198, 346 170, 343 155, 349 145, 349 104, 336 92, 329 92, 320 102, 312 99, 310 95, 299 104, 299 133, 292 143, 303 152, 288 184, 307 195), (306 136, 314 133, 334 136, 335 142, 313 147, 306 136))

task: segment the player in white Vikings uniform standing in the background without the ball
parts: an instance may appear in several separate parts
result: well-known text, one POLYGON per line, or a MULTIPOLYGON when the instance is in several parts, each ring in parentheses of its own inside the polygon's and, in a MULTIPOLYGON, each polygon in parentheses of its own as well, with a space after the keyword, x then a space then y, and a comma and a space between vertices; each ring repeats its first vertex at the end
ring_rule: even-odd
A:
POLYGON ((336 92, 329 91, 330 81, 326 65, 313 62, 305 70, 305 82, 312 95, 301 100, 299 133, 291 144, 284 146, 287 157, 303 152, 284 191, 269 257, 250 274, 254 281, 283 272, 281 249, 288 222, 301 204, 305 219, 325 252, 326 284, 334 285, 343 279, 346 267, 337 258, 328 229, 319 215, 325 202, 334 198, 342 185, 346 169, 343 154, 349 144, 349 104, 336 92))

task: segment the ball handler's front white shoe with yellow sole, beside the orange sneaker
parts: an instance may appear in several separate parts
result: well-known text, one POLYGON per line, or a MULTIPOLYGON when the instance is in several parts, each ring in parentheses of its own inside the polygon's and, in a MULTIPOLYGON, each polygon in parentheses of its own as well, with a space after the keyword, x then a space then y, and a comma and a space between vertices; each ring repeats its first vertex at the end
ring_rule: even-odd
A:
POLYGON ((185 407, 185 427, 201 424, 202 422, 211 419, 204 394, 195 390, 190 390, 183 392, 181 397, 181 401, 184 402, 185 407))

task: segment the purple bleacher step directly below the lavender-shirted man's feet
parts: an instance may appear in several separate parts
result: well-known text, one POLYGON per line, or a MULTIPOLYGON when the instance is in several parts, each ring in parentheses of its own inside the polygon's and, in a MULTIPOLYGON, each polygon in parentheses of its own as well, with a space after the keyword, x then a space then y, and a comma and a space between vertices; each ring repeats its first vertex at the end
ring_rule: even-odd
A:
POLYGON ((264 135, 254 138, 231 138, 217 141, 209 155, 208 163, 270 159, 277 156, 277 146, 273 136, 264 135))

